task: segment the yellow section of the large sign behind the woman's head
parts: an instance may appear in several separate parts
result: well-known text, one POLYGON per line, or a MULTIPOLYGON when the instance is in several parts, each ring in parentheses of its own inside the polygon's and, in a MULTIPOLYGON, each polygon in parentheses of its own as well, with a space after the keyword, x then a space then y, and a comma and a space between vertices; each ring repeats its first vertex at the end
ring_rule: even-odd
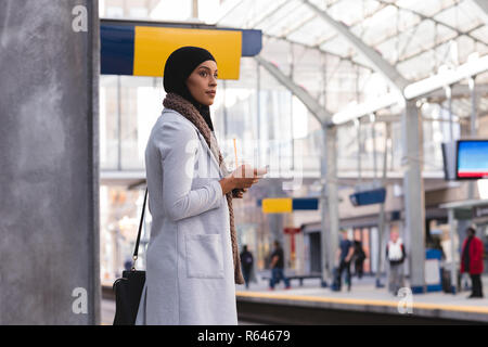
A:
POLYGON ((175 50, 195 46, 217 61, 219 79, 239 79, 242 31, 187 28, 136 27, 134 76, 163 76, 165 62, 175 50))

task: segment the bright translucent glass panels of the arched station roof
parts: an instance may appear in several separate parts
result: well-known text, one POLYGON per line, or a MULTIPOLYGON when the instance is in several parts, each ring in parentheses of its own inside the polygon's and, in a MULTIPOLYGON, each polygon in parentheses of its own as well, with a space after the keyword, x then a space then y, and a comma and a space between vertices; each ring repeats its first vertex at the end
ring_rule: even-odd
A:
MULTIPOLYGON (((409 81, 427 78, 441 65, 463 64, 473 52, 488 53, 488 23, 472 0, 227 0, 217 25, 261 29, 261 55, 285 74, 293 65, 294 81, 313 95, 323 92, 323 81, 317 78, 323 70, 329 93, 349 91, 348 101, 342 98, 346 103, 364 101, 373 87, 373 94, 386 92, 387 81, 375 76, 368 59, 307 2, 345 25, 409 81), (297 52, 299 48, 307 52, 297 52), (312 51, 324 57, 312 57, 312 51)), ((488 75, 476 82, 488 82, 488 75)), ((337 112, 344 102, 325 106, 337 112)), ((470 105, 466 94, 453 107, 467 116, 470 105)))

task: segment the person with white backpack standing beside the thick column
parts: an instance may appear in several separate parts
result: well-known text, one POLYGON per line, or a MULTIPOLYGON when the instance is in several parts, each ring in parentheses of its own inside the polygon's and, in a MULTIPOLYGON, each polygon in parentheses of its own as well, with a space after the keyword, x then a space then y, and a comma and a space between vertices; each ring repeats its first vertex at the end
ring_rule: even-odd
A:
POLYGON ((389 260, 388 290, 395 296, 403 287, 403 260, 406 258, 403 241, 397 231, 389 234, 390 240, 386 245, 386 259, 389 260))

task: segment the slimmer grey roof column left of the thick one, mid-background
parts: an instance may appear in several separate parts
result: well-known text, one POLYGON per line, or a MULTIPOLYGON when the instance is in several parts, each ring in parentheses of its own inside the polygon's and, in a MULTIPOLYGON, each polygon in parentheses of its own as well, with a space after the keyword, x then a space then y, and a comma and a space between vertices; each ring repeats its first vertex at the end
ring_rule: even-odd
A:
POLYGON ((332 284, 332 270, 335 265, 335 253, 338 247, 338 195, 337 195, 337 129, 322 126, 324 146, 321 156, 321 249, 322 285, 332 284))

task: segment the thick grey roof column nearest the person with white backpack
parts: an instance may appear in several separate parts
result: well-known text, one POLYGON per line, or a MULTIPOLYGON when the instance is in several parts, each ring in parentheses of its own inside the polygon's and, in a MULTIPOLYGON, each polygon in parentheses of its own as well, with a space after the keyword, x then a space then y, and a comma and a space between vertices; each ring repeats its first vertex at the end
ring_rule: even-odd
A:
POLYGON ((425 292, 425 193, 422 179, 422 120, 415 101, 406 101, 402 114, 403 191, 410 285, 413 293, 425 292))

